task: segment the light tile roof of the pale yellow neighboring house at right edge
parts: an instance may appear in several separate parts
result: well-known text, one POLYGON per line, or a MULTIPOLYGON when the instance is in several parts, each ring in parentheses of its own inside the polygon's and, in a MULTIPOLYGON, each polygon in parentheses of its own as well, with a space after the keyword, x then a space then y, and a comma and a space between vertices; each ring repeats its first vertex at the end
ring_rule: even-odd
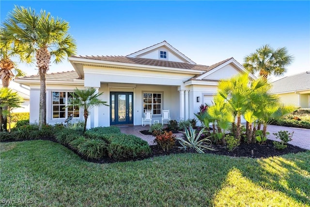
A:
POLYGON ((290 91, 309 90, 310 93, 310 71, 287 76, 271 83, 271 93, 279 94, 290 91))

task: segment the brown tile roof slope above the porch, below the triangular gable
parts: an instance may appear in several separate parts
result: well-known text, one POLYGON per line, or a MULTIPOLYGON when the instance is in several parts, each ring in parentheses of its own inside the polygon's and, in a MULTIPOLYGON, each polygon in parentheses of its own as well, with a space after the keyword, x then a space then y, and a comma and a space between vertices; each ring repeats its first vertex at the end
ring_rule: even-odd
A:
POLYGON ((118 63, 182 68, 182 69, 191 69, 191 70, 208 71, 208 68, 209 68, 209 66, 207 65, 179 63, 179 62, 162 61, 162 60, 147 59, 147 58, 130 58, 126 56, 71 56, 71 57, 85 58, 85 59, 99 60, 99 61, 111 61, 111 62, 118 62, 118 63))

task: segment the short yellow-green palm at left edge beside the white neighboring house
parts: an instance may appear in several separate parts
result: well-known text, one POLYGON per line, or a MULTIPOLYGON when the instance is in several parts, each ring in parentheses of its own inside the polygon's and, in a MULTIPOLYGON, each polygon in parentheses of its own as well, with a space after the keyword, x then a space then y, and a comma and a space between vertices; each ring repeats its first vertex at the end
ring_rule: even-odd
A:
POLYGON ((5 88, 5 87, 0 88, 0 116, 1 116, 0 117, 0 124, 1 124, 0 128, 1 128, 1 131, 6 130, 6 126, 4 127, 4 124, 6 124, 6 122, 4 122, 3 117, 7 117, 7 115, 10 115, 11 110, 13 108, 20 107, 21 103, 23 103, 23 100, 20 96, 18 96, 17 92, 12 92, 11 89, 5 88))

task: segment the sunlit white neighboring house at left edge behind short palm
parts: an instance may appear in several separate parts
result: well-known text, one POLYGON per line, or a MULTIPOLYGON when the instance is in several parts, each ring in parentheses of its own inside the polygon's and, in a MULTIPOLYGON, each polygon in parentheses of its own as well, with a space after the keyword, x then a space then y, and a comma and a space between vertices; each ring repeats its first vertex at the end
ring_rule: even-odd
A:
MULTIPOLYGON (((2 87, 2 83, 0 82, 0 87, 2 87)), ((12 89, 13 92, 17 92, 19 96, 24 99, 20 108, 13 109, 13 112, 29 112, 30 111, 30 88, 28 86, 18 84, 14 81, 10 82, 9 88, 12 89)))

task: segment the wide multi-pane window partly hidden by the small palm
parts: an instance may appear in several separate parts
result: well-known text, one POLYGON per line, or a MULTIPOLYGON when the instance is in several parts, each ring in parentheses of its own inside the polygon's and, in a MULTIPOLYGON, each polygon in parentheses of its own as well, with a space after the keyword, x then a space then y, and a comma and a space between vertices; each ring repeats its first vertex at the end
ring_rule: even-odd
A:
POLYGON ((68 106, 69 101, 72 100, 74 96, 70 92, 52 92, 52 114, 53 118, 67 118, 70 114, 73 117, 79 117, 78 106, 68 106))

